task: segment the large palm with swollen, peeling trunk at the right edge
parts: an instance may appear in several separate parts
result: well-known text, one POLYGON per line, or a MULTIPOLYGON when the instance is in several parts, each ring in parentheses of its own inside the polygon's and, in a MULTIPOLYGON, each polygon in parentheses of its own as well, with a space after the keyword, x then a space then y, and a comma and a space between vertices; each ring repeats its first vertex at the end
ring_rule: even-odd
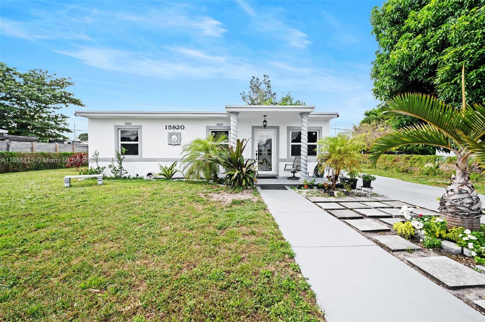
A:
POLYGON ((425 123, 376 139, 369 150, 372 166, 384 152, 398 145, 434 145, 453 151, 457 159, 456 176, 441 197, 438 209, 449 227, 478 230, 482 202, 470 182, 468 161, 472 155, 485 161, 485 146, 480 141, 485 136, 485 107, 467 106, 464 98, 463 106, 455 108, 431 96, 405 94, 394 97, 383 109, 387 115, 411 115, 425 123))

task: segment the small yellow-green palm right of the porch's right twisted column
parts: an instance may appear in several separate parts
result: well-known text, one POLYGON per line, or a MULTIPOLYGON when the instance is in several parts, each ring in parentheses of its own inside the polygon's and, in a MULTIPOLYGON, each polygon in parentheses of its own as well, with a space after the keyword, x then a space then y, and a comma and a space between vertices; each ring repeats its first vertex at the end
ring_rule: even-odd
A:
POLYGON ((317 167, 321 173, 332 169, 332 178, 329 187, 335 188, 340 171, 359 172, 364 159, 362 150, 365 144, 362 140, 339 133, 337 136, 327 136, 318 140, 317 167))

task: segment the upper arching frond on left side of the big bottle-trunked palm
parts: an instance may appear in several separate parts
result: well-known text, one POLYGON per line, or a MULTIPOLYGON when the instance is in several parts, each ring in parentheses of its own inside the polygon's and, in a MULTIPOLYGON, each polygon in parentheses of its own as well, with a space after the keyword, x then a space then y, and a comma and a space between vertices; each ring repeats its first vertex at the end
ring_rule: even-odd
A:
POLYGON ((459 113, 453 106, 429 95, 407 93, 387 102, 383 113, 390 116, 410 115, 417 117, 460 143, 460 136, 453 125, 453 118, 459 113))

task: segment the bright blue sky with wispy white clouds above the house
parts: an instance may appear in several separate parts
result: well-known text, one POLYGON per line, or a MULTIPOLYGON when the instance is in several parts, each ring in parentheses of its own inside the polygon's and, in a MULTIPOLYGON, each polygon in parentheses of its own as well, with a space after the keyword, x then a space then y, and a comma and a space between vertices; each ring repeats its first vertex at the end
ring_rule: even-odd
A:
MULTIPOLYGON (((222 111, 268 74, 349 127, 377 104, 369 16, 381 3, 1 1, 0 60, 71 77, 86 110, 222 111)), ((78 109, 63 112, 87 129, 78 109)))

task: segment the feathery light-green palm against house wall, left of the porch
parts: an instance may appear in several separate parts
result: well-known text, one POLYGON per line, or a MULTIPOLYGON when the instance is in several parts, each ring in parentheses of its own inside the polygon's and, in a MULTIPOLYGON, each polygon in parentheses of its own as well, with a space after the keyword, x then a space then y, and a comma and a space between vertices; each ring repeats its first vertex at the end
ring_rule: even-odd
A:
POLYGON ((185 177, 191 179, 217 180, 219 166, 204 162, 202 158, 208 156, 224 157, 227 149, 219 148, 227 144, 227 134, 219 132, 214 135, 209 133, 205 139, 197 138, 182 147, 182 163, 185 177))

